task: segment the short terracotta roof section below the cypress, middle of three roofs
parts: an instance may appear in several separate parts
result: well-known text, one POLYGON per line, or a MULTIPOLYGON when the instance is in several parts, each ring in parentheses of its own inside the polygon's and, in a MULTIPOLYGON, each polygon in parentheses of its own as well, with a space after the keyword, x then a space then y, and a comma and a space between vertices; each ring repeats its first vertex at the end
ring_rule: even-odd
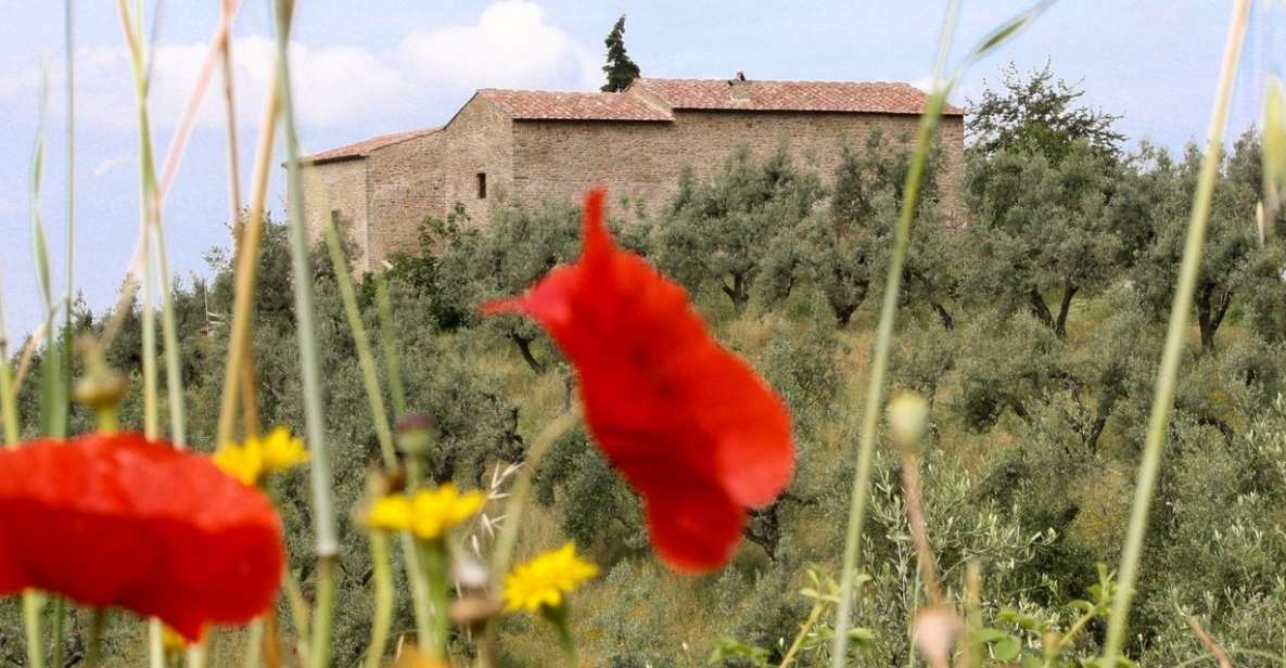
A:
POLYGON ((674 121, 639 98, 615 92, 482 89, 477 94, 521 121, 674 121))

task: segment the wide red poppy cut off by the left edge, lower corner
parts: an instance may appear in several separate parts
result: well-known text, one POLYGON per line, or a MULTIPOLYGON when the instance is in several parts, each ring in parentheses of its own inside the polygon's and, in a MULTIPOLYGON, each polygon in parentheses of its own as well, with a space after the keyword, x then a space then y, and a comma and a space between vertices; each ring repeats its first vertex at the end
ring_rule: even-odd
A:
POLYGON ((198 640, 267 609, 283 563, 267 497, 208 457, 127 433, 0 452, 0 595, 126 608, 198 640))

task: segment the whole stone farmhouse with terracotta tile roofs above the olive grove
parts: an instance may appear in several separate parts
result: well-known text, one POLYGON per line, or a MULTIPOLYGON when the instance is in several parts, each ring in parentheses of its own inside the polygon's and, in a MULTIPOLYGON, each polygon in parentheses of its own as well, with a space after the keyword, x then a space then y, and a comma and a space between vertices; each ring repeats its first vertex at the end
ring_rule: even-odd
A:
MULTIPOLYGON (((639 78, 621 92, 477 91, 442 127, 383 135, 306 158, 305 206, 350 226, 358 271, 419 252, 419 224, 457 203, 485 225, 496 202, 576 199, 603 184, 613 203, 655 209, 678 188, 723 168, 738 146, 783 141, 800 164, 833 175, 844 141, 873 127, 912 136, 927 95, 908 84, 639 78)), ((963 112, 948 107, 944 199, 957 199, 963 112)))

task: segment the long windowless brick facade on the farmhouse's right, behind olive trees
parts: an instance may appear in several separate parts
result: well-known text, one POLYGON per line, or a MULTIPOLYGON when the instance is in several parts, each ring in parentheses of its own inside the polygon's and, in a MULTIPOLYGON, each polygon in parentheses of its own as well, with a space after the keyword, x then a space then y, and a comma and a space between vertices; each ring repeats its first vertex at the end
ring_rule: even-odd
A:
MULTIPOLYGON (((729 154, 746 145, 756 157, 786 141, 796 164, 831 180, 841 141, 860 146, 880 126, 892 137, 913 135, 919 118, 898 114, 765 113, 675 110, 670 122, 518 121, 513 125, 513 197, 539 202, 579 198, 594 184, 612 200, 625 198, 656 211, 675 190, 684 164, 700 176, 723 168, 729 154)), ((963 164, 959 117, 945 118, 944 193, 954 206, 963 164)))

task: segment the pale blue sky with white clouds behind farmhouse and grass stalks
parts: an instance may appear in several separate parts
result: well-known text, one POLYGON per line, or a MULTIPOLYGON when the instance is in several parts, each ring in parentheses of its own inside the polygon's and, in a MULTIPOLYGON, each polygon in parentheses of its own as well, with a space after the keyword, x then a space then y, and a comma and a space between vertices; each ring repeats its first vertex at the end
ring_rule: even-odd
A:
MULTIPOLYGON (((62 3, 12 3, 0 24, 0 295, 10 340, 41 319, 30 234, 30 155, 37 132, 40 63, 50 71, 49 159, 40 202, 62 283, 66 224, 62 3)), ((76 3, 76 289, 107 308, 138 234, 138 170, 129 63, 114 3, 76 3)), ((154 1, 148 1, 154 8, 154 1)), ((901 80, 930 72, 944 1, 691 0, 598 3, 500 0, 302 0, 293 33, 301 137, 320 150, 370 135, 436 126, 478 87, 592 90, 601 82, 603 36, 629 15, 626 45, 644 76, 901 80)), ((217 3, 161 4, 152 118, 163 154, 216 22, 217 3)), ((959 57, 1025 6, 967 0, 959 57)), ((1051 59, 1084 80, 1085 100, 1124 114, 1120 128, 1178 149, 1199 139, 1227 30, 1229 3, 1065 0, 964 80, 957 103, 976 96, 997 68, 1051 59)), ((265 0, 247 0, 235 24, 243 163, 271 72, 265 0)), ((1286 62, 1286 9, 1254 1, 1233 98, 1232 131, 1256 114, 1265 73, 1286 62)), ((216 81, 217 85, 217 81, 216 81)), ((211 96, 213 98, 213 95, 211 96)), ((204 253, 228 244, 225 149, 217 104, 207 100, 165 211, 177 279, 204 274, 204 253)), ((243 175, 243 182, 248 172, 243 175)), ((282 173, 270 206, 280 211, 282 173)), ((60 286, 57 288, 62 290, 60 286)))

